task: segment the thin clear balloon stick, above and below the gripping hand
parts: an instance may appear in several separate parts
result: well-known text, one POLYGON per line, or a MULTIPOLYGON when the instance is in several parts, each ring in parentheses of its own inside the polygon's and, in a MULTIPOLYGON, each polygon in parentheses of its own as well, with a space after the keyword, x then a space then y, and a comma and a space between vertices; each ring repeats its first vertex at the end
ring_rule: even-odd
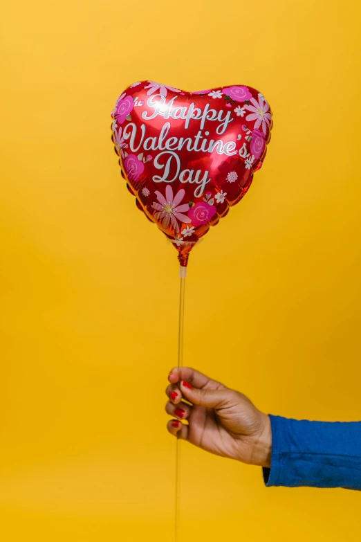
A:
MULTIPOLYGON (((180 295, 179 295, 179 327, 178 327, 178 370, 183 367, 183 328, 184 328, 184 300, 186 267, 180 267, 180 295)), ((176 440, 176 509, 175 509, 175 542, 180 541, 180 432, 176 440)))

